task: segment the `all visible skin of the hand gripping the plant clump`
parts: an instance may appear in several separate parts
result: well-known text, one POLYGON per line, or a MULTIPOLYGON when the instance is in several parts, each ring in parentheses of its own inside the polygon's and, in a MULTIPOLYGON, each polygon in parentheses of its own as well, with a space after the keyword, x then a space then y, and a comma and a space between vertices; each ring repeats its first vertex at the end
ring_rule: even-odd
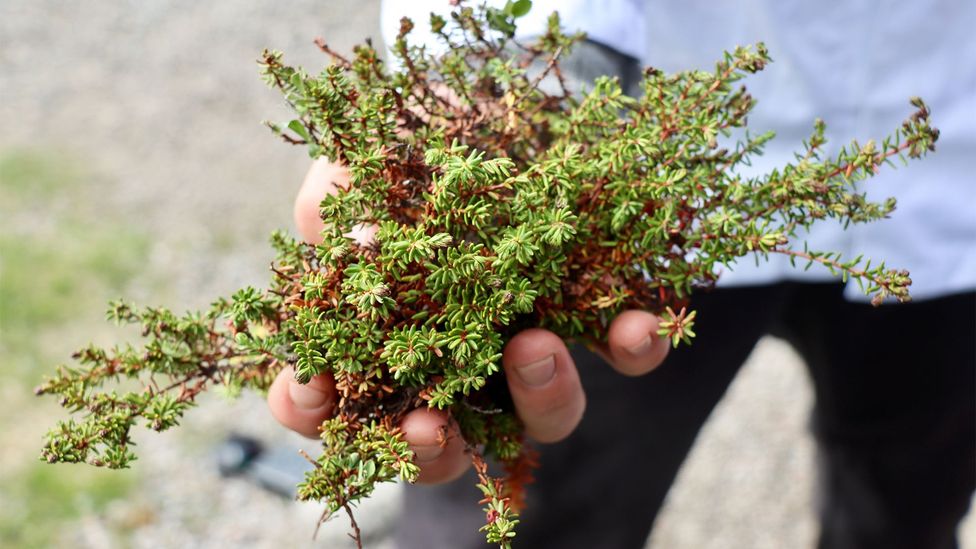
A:
MULTIPOLYGON (((307 241, 320 240, 323 226, 318 210, 322 197, 335 192, 336 184, 345 184, 348 178, 345 168, 326 160, 312 165, 294 211, 298 230, 307 241)), ((364 229, 357 238, 368 239, 372 232, 364 229)), ((621 374, 643 375, 668 353, 668 341, 659 337, 657 330, 658 319, 653 314, 625 311, 610 324, 607 344, 594 350, 621 374)), ((573 432, 583 417, 586 395, 569 349, 559 336, 539 328, 519 332, 505 346, 502 366, 526 434, 539 442, 557 442, 573 432)), ((295 381, 290 367, 278 374, 268 393, 272 415, 285 427, 308 437, 318 436, 319 426, 330 417, 336 401, 331 375, 316 376, 303 385, 295 381)), ((421 468, 419 482, 447 482, 470 465, 456 431, 448 431, 446 446, 438 443, 444 429, 452 429, 445 412, 414 410, 404 418, 401 428, 421 468)))

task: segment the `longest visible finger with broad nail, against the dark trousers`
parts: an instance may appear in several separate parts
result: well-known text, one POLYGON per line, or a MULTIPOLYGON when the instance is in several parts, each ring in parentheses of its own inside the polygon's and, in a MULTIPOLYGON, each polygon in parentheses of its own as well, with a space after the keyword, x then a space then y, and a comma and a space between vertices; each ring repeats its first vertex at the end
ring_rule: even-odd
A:
POLYGON ((520 332, 505 346, 502 365, 526 434, 539 442, 569 436, 583 417, 586 396, 562 339, 538 328, 520 332))

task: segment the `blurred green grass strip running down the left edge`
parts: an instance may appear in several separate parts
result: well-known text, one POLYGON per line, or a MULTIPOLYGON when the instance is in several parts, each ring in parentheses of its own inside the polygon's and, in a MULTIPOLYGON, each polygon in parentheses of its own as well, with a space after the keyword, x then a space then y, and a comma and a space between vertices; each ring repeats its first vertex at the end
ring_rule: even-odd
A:
POLYGON ((110 211, 109 187, 63 154, 0 151, 0 547, 55 546, 136 483, 132 471, 36 457, 64 414, 32 387, 114 332, 105 301, 124 293, 149 253, 148 236, 110 211))

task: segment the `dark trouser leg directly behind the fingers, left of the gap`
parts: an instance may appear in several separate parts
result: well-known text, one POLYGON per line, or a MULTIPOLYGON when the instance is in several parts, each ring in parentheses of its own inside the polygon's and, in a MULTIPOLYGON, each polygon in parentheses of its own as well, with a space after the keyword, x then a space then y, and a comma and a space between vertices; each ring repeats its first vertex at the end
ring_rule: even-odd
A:
MULTIPOLYGON (((567 440, 540 448, 515 545, 641 548, 681 462, 739 366, 772 321, 784 289, 742 288, 700 296, 693 345, 675 349, 641 378, 574 351, 587 411, 567 440), (759 305, 764 305, 760 307, 759 305)), ((403 549, 486 547, 471 478, 408 487, 397 540, 403 549)))

